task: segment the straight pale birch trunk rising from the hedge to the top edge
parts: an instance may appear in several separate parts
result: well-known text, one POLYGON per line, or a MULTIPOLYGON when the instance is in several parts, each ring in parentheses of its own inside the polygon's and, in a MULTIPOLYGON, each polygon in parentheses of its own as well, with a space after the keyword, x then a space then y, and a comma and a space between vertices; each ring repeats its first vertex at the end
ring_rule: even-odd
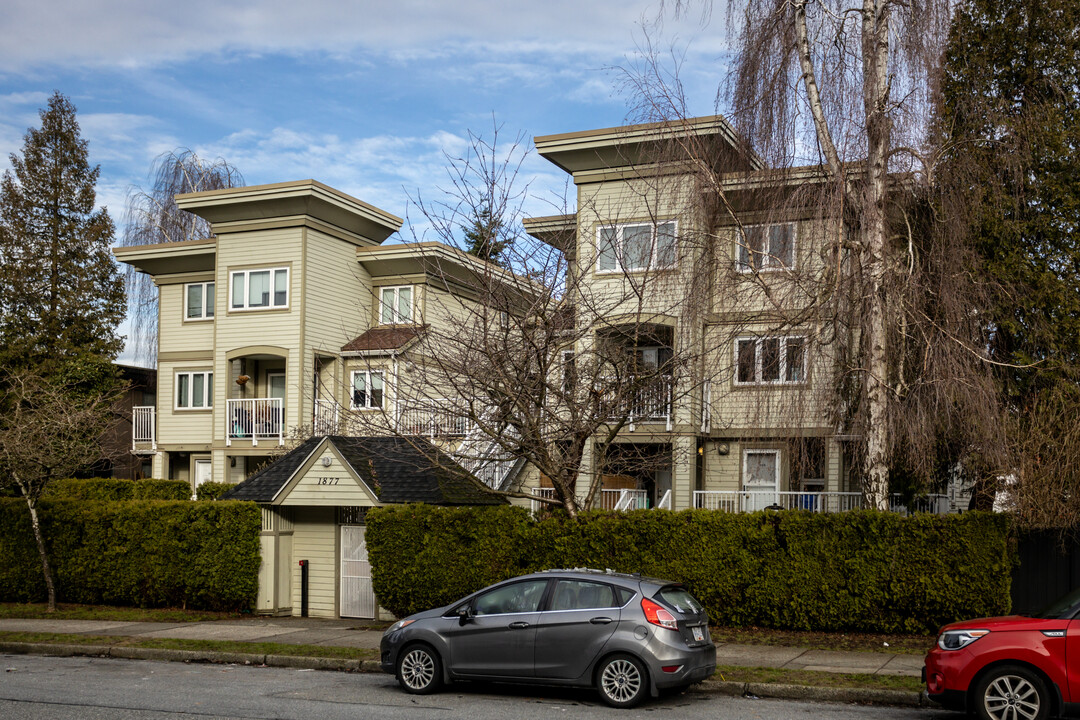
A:
POLYGON ((863 108, 866 117, 866 182, 862 207, 866 277, 866 457, 864 494, 870 507, 889 510, 889 396, 885 282, 886 192, 888 182, 889 10, 880 0, 863 2, 863 108))

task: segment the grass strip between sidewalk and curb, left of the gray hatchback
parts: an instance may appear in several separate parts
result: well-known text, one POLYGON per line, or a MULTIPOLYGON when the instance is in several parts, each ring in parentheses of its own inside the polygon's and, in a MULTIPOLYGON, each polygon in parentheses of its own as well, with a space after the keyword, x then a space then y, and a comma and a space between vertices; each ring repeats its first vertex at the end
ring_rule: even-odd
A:
POLYGON ((339 660, 378 660, 379 651, 368 648, 305 646, 283 642, 238 642, 234 640, 189 640, 179 638, 134 638, 110 635, 59 633, 0 633, 0 642, 44 642, 50 644, 108 646, 110 648, 153 648, 158 650, 202 650, 242 652, 255 655, 294 655, 339 660))

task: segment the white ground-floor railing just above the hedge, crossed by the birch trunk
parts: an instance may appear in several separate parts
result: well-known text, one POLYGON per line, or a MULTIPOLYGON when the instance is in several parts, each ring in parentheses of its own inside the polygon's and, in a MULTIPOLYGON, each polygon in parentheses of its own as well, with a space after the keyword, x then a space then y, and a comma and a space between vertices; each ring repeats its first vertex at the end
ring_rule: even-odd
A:
MULTIPOLYGON (((861 492, 799 492, 785 490, 698 490, 693 493, 693 506, 704 510, 720 510, 728 513, 752 513, 758 510, 806 510, 812 513, 843 513, 865 507, 861 492)), ((900 495, 892 495, 890 510, 894 513, 948 512, 947 495, 927 495, 907 507, 900 502, 900 495)))

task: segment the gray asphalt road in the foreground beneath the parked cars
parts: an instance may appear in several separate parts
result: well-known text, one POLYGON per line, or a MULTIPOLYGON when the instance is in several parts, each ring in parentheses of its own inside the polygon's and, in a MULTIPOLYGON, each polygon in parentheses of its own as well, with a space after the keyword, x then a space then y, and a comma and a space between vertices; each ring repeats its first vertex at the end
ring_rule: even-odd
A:
POLYGON ((386 675, 87 657, 0 656, 5 720, 244 718, 356 720, 443 718, 659 718, 664 720, 962 720, 942 710, 723 697, 661 697, 634 710, 602 705, 592 691, 462 685, 416 697, 386 675))

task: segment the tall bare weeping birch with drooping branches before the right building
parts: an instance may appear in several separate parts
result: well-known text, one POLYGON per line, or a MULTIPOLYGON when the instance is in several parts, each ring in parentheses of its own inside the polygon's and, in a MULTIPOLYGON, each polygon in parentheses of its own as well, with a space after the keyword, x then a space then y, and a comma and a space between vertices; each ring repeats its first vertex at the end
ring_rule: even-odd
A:
MULTIPOLYGON (((738 180, 703 148, 701 182, 717 223, 738 233, 748 220, 822 225, 813 241, 820 261, 785 270, 786 293, 756 270, 741 282, 766 295, 778 327, 814 328, 816 347, 831 354, 835 378, 804 408, 824 407, 878 508, 889 507, 890 467, 926 481, 943 443, 954 459, 983 452, 986 472, 1000 472, 985 298, 963 239, 935 214, 937 155, 926 138, 950 3, 726 8, 737 53, 721 87, 761 162, 738 180)), ((642 119, 679 117, 677 83, 657 70, 636 78, 642 119)))

